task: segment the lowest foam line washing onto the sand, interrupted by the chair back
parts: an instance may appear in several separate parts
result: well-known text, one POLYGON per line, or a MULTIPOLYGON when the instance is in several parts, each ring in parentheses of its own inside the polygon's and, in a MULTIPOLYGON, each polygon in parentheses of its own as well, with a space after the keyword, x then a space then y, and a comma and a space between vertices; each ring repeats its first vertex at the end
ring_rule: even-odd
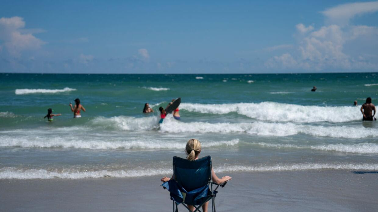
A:
MULTIPOLYGON (((260 171, 301 171, 301 170, 378 170, 376 163, 294 163, 277 165, 220 165, 214 168, 215 172, 260 172, 260 171)), ((77 169, 23 169, 4 167, 0 168, 0 179, 81 179, 81 178, 102 178, 102 177, 141 177, 154 175, 172 174, 171 168, 140 168, 129 170, 93 170, 79 171, 77 169)))

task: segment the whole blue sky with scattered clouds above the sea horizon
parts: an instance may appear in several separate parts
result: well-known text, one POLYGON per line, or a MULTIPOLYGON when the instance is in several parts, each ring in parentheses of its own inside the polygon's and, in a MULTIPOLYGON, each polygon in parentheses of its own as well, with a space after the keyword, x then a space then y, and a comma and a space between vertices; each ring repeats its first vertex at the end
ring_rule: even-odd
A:
POLYGON ((378 2, 8 1, 0 72, 376 72, 378 2))

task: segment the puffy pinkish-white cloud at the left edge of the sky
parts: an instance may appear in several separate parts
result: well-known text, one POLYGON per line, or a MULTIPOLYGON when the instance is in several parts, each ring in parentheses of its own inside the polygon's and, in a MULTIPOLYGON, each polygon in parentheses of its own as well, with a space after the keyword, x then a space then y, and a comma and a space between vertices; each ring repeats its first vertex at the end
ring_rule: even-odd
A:
POLYGON ((25 27, 25 21, 21 17, 0 18, 2 48, 6 49, 11 56, 20 57, 22 51, 38 49, 45 44, 30 32, 27 33, 25 29, 22 29, 23 27, 25 27))

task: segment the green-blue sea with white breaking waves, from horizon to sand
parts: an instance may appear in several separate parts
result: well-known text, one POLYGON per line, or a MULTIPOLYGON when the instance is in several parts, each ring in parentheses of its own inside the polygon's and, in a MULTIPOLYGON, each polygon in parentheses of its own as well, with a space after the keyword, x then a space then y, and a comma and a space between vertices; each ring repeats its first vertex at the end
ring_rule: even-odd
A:
POLYGON ((360 111, 367 97, 378 102, 377 73, 2 73, 0 94, 0 179, 159 178, 191 138, 229 175, 378 170, 378 124, 360 111), (158 108, 178 97, 181 120, 159 125, 158 108), (142 113, 146 102, 155 112, 142 113), (48 108, 62 116, 48 123, 48 108))

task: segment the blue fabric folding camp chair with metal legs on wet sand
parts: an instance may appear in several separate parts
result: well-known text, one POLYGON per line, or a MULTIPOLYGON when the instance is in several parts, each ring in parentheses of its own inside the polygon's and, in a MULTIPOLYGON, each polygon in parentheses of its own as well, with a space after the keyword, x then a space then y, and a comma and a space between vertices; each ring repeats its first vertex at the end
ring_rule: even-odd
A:
POLYGON ((173 157, 173 178, 161 186, 170 192, 170 199, 173 200, 173 212, 178 212, 177 206, 180 203, 190 212, 187 205, 194 206, 194 212, 201 212, 200 208, 209 200, 211 200, 212 212, 215 212, 216 190, 219 186, 223 188, 226 183, 227 181, 217 184, 212 181, 211 156, 194 161, 173 157), (217 185, 214 190, 213 184, 217 185))

